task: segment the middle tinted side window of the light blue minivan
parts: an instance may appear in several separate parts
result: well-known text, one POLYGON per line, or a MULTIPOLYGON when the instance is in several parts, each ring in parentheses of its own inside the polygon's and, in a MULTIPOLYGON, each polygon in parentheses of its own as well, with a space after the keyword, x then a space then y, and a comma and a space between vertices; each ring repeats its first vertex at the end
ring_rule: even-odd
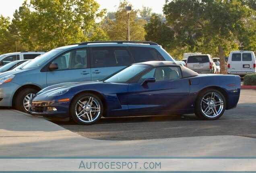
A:
POLYGON ((128 66, 132 63, 124 47, 94 47, 92 52, 93 67, 128 66))

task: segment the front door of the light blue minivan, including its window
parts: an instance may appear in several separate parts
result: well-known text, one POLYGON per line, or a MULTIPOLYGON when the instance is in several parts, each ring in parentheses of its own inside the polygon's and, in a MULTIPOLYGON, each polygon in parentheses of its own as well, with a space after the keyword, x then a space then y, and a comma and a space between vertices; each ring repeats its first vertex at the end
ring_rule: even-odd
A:
POLYGON ((80 48, 56 57, 51 64, 58 64, 58 69, 47 71, 47 86, 62 82, 91 81, 88 55, 87 48, 80 48))

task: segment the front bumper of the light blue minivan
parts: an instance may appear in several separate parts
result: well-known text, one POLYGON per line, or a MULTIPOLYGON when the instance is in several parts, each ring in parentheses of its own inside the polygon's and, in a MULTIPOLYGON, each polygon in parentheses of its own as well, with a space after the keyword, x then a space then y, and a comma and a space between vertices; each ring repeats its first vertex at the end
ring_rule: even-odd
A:
POLYGON ((11 107, 14 93, 21 87, 14 82, 7 82, 0 85, 0 107, 11 107))

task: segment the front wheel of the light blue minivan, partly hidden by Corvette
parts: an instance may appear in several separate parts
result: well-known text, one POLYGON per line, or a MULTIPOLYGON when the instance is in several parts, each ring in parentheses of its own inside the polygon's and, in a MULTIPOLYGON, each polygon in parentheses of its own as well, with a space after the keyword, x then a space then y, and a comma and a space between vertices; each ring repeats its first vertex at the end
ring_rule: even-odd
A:
POLYGON ((31 105, 28 102, 31 100, 29 100, 29 98, 34 97, 37 92, 38 91, 36 89, 32 89, 32 88, 26 88, 19 91, 14 101, 15 108, 18 111, 30 113, 31 105))

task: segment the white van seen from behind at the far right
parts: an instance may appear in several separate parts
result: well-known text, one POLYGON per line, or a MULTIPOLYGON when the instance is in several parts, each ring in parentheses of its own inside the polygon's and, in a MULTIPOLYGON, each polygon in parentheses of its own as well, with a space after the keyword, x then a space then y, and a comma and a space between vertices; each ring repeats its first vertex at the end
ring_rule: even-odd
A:
POLYGON ((252 51, 232 51, 227 61, 227 73, 244 76, 255 73, 255 54, 252 51))

